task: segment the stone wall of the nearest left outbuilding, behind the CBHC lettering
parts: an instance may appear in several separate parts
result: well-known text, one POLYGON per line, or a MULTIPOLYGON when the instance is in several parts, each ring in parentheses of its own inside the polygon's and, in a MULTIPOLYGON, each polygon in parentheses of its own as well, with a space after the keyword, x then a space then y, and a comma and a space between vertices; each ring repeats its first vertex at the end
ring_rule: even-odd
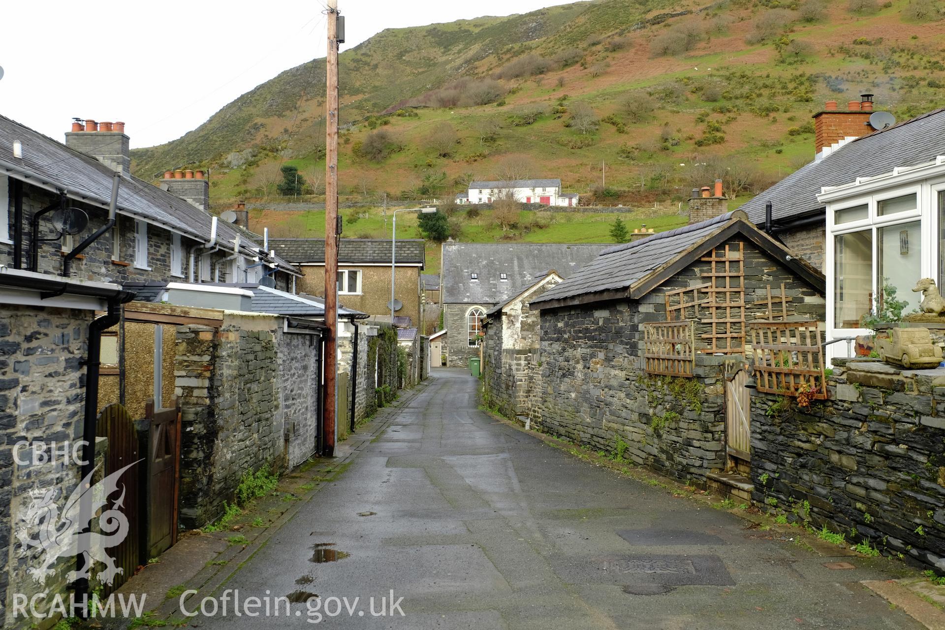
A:
MULTIPOLYGON (((26 465, 13 458, 17 442, 72 443, 80 440, 85 402, 85 356, 89 323, 94 313, 60 308, 5 305, 0 311, 0 619, 13 627, 9 607, 12 593, 27 597, 38 592, 63 593, 65 574, 75 569, 74 557, 63 557, 52 567, 43 586, 26 573, 40 566, 40 551, 25 550, 14 531, 24 525, 32 502, 30 490, 55 492, 61 505, 78 483, 78 468, 69 463, 26 465)), ((48 451, 47 451, 48 453, 48 451)), ((30 459, 20 451, 21 461, 30 459)), ((30 530, 36 535, 36 528, 30 530)), ((43 605, 51 602, 47 599, 43 605)), ((24 620, 16 626, 25 626, 24 620)))

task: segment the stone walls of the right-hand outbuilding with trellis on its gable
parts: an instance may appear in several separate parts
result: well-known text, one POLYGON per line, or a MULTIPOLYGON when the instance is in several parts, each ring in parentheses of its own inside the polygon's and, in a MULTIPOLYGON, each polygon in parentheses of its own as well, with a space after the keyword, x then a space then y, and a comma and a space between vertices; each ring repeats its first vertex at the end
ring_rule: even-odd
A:
MULTIPOLYGON (((638 300, 541 310, 532 423, 596 450, 616 451, 619 440, 634 462, 697 483, 724 468, 725 363, 744 357, 696 352, 695 378, 680 378, 646 374, 642 356, 644 322, 666 319, 664 291, 702 284, 700 274, 710 272, 710 263, 696 262, 638 300)), ((767 286, 780 293, 782 282, 792 314, 823 319, 824 298, 813 287, 745 242, 748 321, 764 311, 753 303, 767 286)), ((696 326, 697 348, 708 331, 696 326)))

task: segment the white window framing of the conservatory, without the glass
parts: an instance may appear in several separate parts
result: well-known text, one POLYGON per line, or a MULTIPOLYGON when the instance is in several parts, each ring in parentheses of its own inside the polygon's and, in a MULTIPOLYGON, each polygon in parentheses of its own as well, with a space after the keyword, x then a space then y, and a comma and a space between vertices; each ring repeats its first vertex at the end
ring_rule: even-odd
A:
MULTIPOLYGON (((863 188, 863 187, 860 187, 863 188)), ((827 338, 828 340, 853 337, 860 335, 869 335, 873 331, 866 328, 839 328, 836 324, 836 237, 852 232, 869 231, 872 239, 871 251, 871 295, 875 300, 879 295, 879 256, 877 247, 879 247, 879 230, 886 227, 915 223, 919 221, 919 269, 916 273, 916 280, 920 278, 934 278, 938 281, 938 257, 939 237, 938 237, 938 212, 936 195, 938 191, 945 190, 945 176, 909 182, 896 185, 890 182, 887 187, 876 190, 867 190, 856 194, 851 191, 850 196, 836 199, 827 203, 827 238, 826 238, 826 262, 824 273, 827 279, 827 338), (895 214, 880 214, 879 204, 886 199, 898 196, 912 195, 916 196, 916 210, 906 211, 895 214), (868 215, 865 219, 849 221, 836 224, 834 217, 837 211, 845 210, 855 206, 866 205, 868 215)), ((897 287, 900 295, 909 292, 912 287, 897 287)), ((827 346, 827 357, 848 357, 852 354, 852 344, 834 343, 827 346)))

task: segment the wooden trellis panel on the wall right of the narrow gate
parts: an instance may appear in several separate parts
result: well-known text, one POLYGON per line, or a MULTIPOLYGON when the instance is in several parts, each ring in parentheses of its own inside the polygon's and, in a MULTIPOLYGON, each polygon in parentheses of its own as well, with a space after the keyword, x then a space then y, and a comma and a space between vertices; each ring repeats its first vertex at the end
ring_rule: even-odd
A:
POLYGON ((749 329, 758 391, 827 398, 816 321, 756 321, 749 329))

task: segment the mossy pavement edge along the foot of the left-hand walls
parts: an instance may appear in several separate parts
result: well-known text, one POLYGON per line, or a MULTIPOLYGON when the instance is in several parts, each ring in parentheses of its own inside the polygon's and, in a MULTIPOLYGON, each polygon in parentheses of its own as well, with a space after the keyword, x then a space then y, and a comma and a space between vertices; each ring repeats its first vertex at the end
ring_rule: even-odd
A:
MULTIPOLYGON (((336 454, 335 457, 331 459, 326 458, 324 463, 331 464, 333 469, 343 467, 343 472, 343 469, 347 468, 347 466, 353 462, 355 457, 364 449, 364 446, 384 432, 387 426, 400 415, 404 407, 417 398, 422 391, 426 389, 428 384, 429 381, 422 381, 406 392, 402 390, 402 396, 398 398, 398 400, 395 400, 383 409, 379 409, 373 418, 357 427, 352 434, 348 435, 347 440, 335 447, 336 453, 338 453, 338 451, 342 452, 336 454)), ((340 474, 340 472, 338 474, 340 474)), ((242 547, 233 545, 231 548, 220 553, 216 559, 226 560, 227 563, 225 565, 207 565, 199 570, 194 577, 187 580, 184 583, 185 590, 196 590, 198 592, 190 595, 186 601, 199 602, 204 597, 211 596, 217 588, 223 586, 223 584, 230 579, 232 574, 249 562, 256 552, 266 546, 269 539, 275 535, 286 522, 293 519, 296 514, 299 513, 301 507, 310 502, 322 487, 324 487, 324 485, 318 485, 306 492, 301 497, 300 501, 295 502, 291 507, 285 510, 278 519, 274 520, 258 536, 250 540, 248 545, 242 547)), ((155 609, 154 616, 167 618, 175 615, 179 610, 180 597, 170 598, 155 609)))

